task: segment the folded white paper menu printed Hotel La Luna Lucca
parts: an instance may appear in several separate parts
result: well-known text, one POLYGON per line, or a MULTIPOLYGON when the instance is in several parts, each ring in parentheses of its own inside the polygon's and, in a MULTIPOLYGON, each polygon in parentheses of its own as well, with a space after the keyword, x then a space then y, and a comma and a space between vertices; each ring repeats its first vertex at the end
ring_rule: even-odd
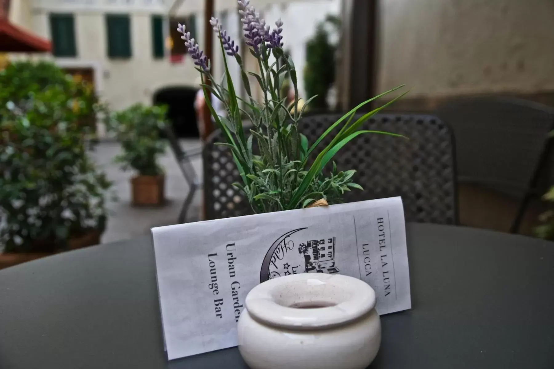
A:
POLYGON ((365 280, 379 314, 411 308, 401 198, 152 228, 169 360, 237 346, 255 285, 296 273, 365 280))

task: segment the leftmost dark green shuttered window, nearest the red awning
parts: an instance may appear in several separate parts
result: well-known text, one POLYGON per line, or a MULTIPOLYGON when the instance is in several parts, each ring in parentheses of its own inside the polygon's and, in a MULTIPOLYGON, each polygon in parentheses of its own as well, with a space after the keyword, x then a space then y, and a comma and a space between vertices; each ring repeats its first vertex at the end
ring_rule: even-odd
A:
POLYGON ((75 58, 75 22, 73 14, 50 14, 50 34, 54 56, 75 58))

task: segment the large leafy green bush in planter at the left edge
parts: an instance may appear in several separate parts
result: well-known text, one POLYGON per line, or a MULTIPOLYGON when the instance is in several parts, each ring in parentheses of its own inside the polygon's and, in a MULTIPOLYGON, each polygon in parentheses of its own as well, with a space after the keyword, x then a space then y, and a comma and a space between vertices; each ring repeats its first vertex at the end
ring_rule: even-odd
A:
POLYGON ((79 124, 93 97, 46 62, 9 64, 0 85, 0 268, 98 244, 110 183, 79 124))

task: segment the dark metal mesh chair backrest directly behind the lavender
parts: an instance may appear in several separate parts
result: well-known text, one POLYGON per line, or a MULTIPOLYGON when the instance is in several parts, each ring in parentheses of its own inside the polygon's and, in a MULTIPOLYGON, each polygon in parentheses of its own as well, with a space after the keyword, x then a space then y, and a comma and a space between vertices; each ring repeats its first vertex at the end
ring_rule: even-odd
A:
MULTIPOLYGON (((306 116, 300 132, 315 142, 341 115, 306 116)), ((455 224, 456 186, 453 137, 437 118, 424 115, 376 115, 363 129, 403 134, 408 139, 363 134, 336 155, 339 170, 356 169, 355 181, 364 190, 347 193, 345 201, 402 196, 407 221, 455 224)), ((327 136, 321 147, 330 142, 327 136)), ((244 194, 233 188, 240 176, 219 132, 208 139, 203 152, 207 219, 250 214, 244 194)), ((317 152, 317 149, 316 149, 317 152)))

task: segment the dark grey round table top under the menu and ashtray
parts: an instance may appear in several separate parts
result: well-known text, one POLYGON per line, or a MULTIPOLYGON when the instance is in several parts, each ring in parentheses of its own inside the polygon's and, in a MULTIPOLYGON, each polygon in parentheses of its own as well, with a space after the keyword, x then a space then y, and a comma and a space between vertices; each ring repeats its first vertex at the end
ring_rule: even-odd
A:
MULTIPOLYGON (((408 224, 413 309, 382 317, 371 368, 554 367, 554 243, 408 224)), ((246 368, 167 362, 149 238, 0 271, 0 368, 246 368)), ((340 369, 340 368, 337 368, 340 369)))

